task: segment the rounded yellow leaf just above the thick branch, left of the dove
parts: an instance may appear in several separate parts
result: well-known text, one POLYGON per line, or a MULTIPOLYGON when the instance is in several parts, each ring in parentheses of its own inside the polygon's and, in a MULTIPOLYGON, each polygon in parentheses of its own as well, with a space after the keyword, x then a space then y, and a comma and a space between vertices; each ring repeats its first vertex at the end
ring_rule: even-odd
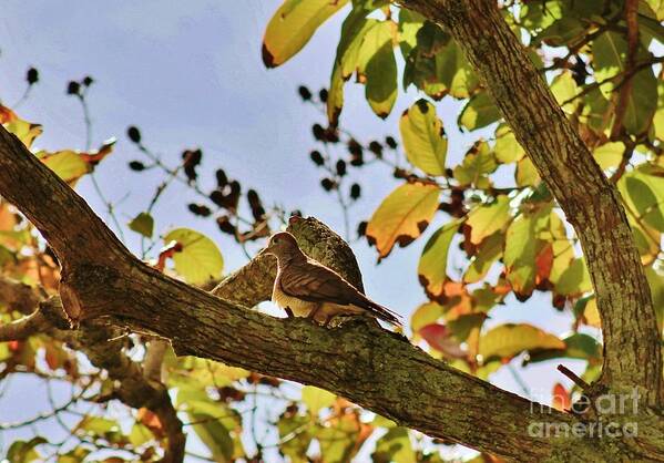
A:
POLYGON ((224 269, 222 253, 205 235, 190 228, 176 228, 164 236, 164 241, 166 244, 177 241, 182 245, 182 250, 175 253, 173 261, 175 271, 186 282, 198 285, 222 276, 224 269))

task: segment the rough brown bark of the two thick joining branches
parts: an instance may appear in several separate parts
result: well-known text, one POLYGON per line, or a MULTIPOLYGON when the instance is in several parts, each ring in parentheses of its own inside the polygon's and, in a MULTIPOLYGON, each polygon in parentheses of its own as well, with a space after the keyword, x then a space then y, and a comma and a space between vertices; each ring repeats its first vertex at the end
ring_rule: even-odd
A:
POLYGON ((644 399, 640 405, 647 407, 632 409, 625 416, 607 416, 637 422, 637 436, 531 435, 533 423, 584 421, 451 369, 370 323, 324 329, 247 310, 241 305, 269 296, 272 264, 267 260, 251 263, 218 288, 217 295, 234 302, 173 280, 134 258, 83 199, 3 130, 0 194, 28 216, 54 249, 63 265, 63 303, 81 327, 103 320, 155 333, 171 340, 181 354, 315 384, 405 426, 513 461, 664 460, 660 339, 619 193, 569 124, 494 2, 402 3, 443 25, 463 47, 574 225, 604 328, 604 370, 594 392, 637 388, 644 399))

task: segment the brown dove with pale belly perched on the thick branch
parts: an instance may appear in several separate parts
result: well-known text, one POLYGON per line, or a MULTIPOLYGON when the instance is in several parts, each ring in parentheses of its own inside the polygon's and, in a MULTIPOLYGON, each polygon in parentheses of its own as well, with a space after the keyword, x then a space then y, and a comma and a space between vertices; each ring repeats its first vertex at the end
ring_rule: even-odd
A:
POLYGON ((277 258, 272 300, 289 317, 327 326, 337 316, 368 316, 400 327, 399 316, 374 302, 344 277, 307 257, 287 232, 273 235, 261 255, 277 258))

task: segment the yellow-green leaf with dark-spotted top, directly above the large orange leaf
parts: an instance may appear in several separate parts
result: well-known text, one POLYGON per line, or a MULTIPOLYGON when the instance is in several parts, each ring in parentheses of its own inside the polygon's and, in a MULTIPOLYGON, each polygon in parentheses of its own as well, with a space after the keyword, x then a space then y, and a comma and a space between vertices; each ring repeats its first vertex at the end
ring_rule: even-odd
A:
POLYGON ((419 100, 406 110, 399 121, 399 131, 408 161, 429 175, 445 175, 447 136, 436 107, 419 100))

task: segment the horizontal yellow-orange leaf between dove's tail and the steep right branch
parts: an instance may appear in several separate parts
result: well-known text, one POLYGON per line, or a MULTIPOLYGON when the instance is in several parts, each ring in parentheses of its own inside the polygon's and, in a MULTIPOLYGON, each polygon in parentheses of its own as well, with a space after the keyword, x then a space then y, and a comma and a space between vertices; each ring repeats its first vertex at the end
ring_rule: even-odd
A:
POLYGON ((525 351, 565 349, 556 336, 528 323, 505 323, 490 329, 480 337, 478 353, 487 363, 492 358, 510 360, 525 351))

